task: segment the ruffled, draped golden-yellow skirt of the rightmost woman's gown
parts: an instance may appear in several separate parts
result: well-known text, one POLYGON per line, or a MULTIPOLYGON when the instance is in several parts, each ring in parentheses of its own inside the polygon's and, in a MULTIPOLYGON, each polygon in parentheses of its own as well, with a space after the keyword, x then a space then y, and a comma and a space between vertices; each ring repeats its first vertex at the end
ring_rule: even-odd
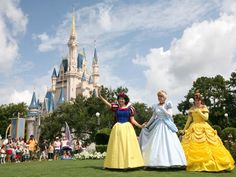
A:
POLYGON ((187 171, 224 171, 234 169, 234 159, 217 132, 207 123, 193 123, 185 132, 182 145, 187 171))

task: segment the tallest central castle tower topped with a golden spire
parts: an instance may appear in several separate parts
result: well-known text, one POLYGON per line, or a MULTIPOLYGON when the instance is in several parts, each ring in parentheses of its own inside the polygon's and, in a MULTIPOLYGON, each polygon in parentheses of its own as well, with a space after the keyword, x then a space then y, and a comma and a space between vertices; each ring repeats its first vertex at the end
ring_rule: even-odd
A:
POLYGON ((71 34, 68 41, 68 71, 67 77, 67 101, 76 98, 77 84, 77 35, 75 29, 75 16, 72 17, 71 34))

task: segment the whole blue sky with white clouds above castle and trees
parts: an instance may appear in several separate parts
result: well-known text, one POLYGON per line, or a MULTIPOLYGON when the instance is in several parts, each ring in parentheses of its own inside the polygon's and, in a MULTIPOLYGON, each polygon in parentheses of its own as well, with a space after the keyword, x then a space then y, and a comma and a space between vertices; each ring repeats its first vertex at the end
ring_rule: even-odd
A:
POLYGON ((0 104, 43 100, 73 14, 100 84, 127 87, 131 102, 151 106, 163 89, 177 111, 198 77, 236 69, 235 0, 0 0, 0 104))

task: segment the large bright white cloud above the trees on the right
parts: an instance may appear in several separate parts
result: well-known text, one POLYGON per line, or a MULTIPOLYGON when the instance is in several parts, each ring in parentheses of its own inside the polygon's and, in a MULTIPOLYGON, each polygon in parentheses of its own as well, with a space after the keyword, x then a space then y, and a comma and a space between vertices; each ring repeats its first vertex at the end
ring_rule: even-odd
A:
POLYGON ((222 14, 214 21, 194 23, 168 50, 151 49, 133 62, 147 67, 147 90, 165 89, 177 104, 196 78, 217 74, 228 78, 236 67, 235 39, 236 16, 222 14))

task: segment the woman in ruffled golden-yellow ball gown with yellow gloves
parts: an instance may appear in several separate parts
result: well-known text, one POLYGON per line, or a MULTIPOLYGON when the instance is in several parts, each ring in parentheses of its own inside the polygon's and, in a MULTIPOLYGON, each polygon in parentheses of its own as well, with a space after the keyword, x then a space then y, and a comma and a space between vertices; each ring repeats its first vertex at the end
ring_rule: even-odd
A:
POLYGON ((199 92, 182 133, 182 145, 187 159, 187 171, 224 171, 234 169, 234 159, 224 147, 217 131, 208 123, 209 111, 199 92))

